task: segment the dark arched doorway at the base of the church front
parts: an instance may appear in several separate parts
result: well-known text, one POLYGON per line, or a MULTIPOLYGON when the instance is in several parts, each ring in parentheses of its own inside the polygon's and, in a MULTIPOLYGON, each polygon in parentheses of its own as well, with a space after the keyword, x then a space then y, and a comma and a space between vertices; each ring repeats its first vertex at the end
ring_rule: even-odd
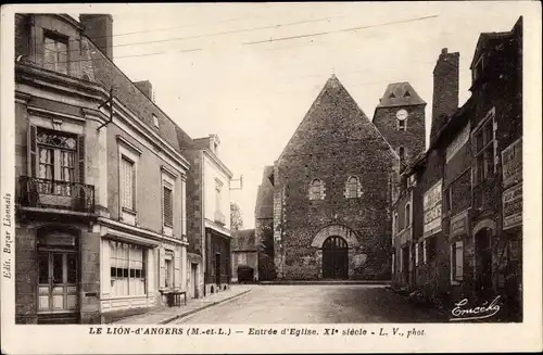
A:
POLYGON ((323 243, 323 278, 346 279, 349 277, 349 248, 341 237, 329 237, 323 243))

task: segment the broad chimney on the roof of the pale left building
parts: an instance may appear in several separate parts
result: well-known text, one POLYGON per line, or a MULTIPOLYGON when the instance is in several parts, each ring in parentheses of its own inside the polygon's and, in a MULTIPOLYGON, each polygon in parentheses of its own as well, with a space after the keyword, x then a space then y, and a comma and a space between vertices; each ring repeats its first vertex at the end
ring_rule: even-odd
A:
POLYGON ((80 14, 85 36, 113 61, 113 16, 110 14, 80 14))

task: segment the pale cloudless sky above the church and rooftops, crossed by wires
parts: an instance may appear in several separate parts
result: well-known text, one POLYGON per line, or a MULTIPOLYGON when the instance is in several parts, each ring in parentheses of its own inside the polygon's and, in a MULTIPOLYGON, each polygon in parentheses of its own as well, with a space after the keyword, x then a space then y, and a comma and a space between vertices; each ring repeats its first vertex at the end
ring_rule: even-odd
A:
POLYGON ((114 62, 131 80, 150 80, 157 105, 189 136, 219 136, 219 157, 233 179, 243 176, 231 201, 243 228, 253 228, 264 166, 332 74, 370 119, 388 84, 409 81, 428 103, 429 132, 442 48, 460 53, 462 105, 479 34, 510 30, 522 10, 497 2, 320 2, 132 4, 110 13, 114 62))

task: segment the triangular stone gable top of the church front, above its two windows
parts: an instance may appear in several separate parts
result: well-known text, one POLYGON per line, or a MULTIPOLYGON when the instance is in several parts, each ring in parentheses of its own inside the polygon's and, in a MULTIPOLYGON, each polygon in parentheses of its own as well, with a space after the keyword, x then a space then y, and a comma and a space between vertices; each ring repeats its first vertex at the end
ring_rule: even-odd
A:
MULTIPOLYGON (((344 150, 352 141, 365 141, 377 150, 395 156, 393 149, 336 76, 326 83, 305 117, 281 152, 278 163, 289 156, 312 155, 317 151, 344 150)), ((361 152, 362 153, 362 152, 361 152)))

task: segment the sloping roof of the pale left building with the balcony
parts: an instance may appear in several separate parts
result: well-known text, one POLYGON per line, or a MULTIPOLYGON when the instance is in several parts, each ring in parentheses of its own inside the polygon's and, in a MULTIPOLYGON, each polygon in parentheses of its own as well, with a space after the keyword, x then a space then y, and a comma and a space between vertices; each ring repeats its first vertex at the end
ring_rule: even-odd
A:
POLYGON ((106 89, 113 88, 114 98, 123 102, 147 126, 156 131, 175 151, 181 153, 186 145, 190 145, 192 139, 140 91, 126 74, 92 43, 92 40, 90 43, 94 79, 106 89), (154 126, 153 114, 159 118, 159 128, 154 126))

